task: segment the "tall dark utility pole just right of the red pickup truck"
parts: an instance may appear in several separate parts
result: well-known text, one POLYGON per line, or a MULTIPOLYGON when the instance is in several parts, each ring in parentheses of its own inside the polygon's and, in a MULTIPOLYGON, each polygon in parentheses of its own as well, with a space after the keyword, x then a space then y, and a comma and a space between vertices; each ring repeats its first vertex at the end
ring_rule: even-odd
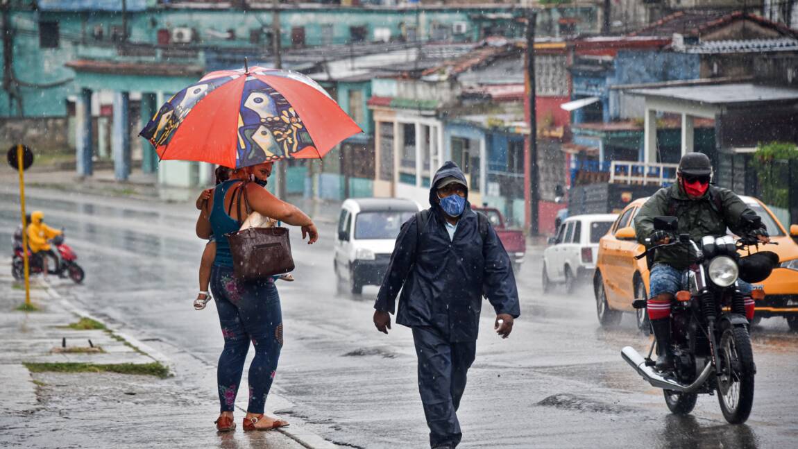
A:
POLYGON ((538 144, 537 117, 535 115, 535 21, 538 13, 531 10, 527 16, 527 78, 529 80, 529 234, 536 237, 539 232, 538 144))

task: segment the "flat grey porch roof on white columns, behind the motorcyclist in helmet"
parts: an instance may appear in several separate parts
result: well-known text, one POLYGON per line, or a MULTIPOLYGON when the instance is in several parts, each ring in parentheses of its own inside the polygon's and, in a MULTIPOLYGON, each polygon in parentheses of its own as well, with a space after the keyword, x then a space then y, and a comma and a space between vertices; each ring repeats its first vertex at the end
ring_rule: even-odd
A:
POLYGON ((717 105, 772 101, 798 102, 798 89, 750 83, 631 89, 627 90, 626 93, 717 105))

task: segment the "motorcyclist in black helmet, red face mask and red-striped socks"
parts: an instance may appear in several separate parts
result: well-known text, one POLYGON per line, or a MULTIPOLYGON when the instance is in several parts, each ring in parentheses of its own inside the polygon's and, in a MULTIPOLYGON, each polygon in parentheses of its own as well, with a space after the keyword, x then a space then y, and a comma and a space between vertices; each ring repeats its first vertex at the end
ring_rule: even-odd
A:
MULTIPOLYGON (((712 164, 705 154, 693 152, 682 156, 677 173, 677 182, 652 195, 634 218, 638 242, 661 245, 675 238, 665 230, 654 230, 654 217, 661 215, 678 217, 677 234, 689 234, 695 242, 705 235, 722 237, 727 227, 737 235, 755 235, 760 242, 770 241, 764 224, 754 230, 745 229, 742 215, 756 214, 733 191, 709 185, 712 164)), ((654 255, 646 309, 657 339, 656 368, 661 371, 673 368, 670 305, 676 293, 686 288, 686 273, 691 263, 686 246, 661 248, 654 255)), ((750 320, 753 318, 753 300, 749 297, 752 287, 742 280, 738 286, 748 297, 745 314, 750 320)))

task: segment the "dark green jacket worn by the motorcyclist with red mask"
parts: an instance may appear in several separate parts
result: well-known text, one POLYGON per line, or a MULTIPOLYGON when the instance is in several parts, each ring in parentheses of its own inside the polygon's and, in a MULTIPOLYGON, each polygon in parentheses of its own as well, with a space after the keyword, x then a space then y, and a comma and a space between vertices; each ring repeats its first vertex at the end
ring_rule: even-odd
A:
MULTIPOLYGON (((654 232, 654 217, 672 215, 679 219, 677 234, 690 234, 695 242, 705 235, 722 237, 727 227, 740 235, 740 216, 745 212, 754 213, 729 189, 709 186, 700 199, 689 199, 678 184, 673 184, 659 189, 643 204, 634 217, 634 231, 638 242, 645 245, 654 232)), ((662 248, 654 255, 654 263, 666 263, 677 270, 687 269, 690 262, 686 246, 662 248)))

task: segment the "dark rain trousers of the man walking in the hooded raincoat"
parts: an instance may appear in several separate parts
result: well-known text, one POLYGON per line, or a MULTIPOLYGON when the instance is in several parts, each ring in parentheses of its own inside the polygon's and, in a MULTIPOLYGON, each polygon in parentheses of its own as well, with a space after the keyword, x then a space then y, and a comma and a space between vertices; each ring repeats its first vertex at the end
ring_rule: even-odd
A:
POLYGON ((418 391, 429 426, 432 447, 460 443, 463 437, 456 411, 465 391, 468 368, 474 361, 476 341, 452 343, 437 330, 414 327, 418 356, 418 391))

